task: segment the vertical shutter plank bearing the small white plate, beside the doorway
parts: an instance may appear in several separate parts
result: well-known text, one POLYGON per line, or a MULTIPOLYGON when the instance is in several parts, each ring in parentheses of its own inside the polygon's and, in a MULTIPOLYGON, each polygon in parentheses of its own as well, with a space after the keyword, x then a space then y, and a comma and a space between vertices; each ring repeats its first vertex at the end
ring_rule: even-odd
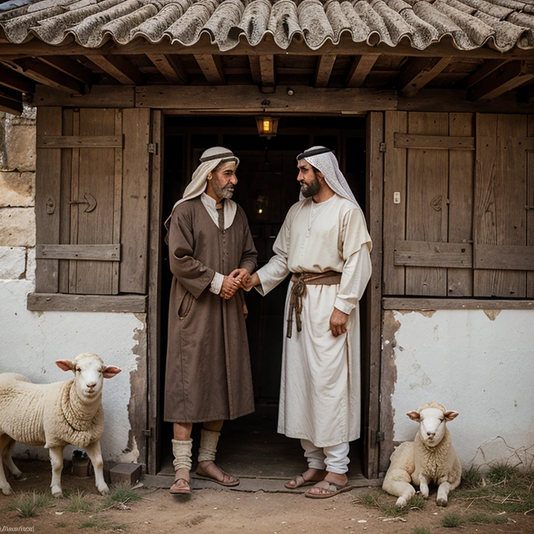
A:
POLYGON ((394 133, 407 129, 407 113, 391 111, 385 117, 384 157, 384 288, 385 295, 403 295, 405 268, 394 264, 396 241, 405 239, 406 152, 394 147, 394 133), (398 194, 400 202, 395 203, 398 194))

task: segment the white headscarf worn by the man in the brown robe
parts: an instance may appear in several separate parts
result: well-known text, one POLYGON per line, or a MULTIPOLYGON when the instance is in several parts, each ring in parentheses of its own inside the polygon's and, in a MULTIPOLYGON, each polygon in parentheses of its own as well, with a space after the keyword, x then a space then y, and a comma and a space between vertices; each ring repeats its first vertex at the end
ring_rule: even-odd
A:
MULTIPOLYGON (((206 191, 209 173, 213 169, 217 168, 220 163, 226 163, 227 161, 235 161, 236 168, 239 165, 239 159, 234 156, 232 150, 229 150, 227 148, 211 147, 202 152, 202 156, 200 156, 200 165, 198 165, 195 172, 193 172, 193 178, 191 178, 191 182, 186 187, 186 191, 184 191, 184 196, 181 197, 181 199, 172 207, 170 216, 168 216, 167 220, 165 220, 166 229, 169 229, 170 218, 172 217, 172 213, 173 211, 175 211, 175 208, 182 202, 186 202, 186 200, 192 200, 193 198, 202 195, 202 193, 206 191)), ((229 227, 230 225, 232 225, 234 217, 236 216, 236 211, 237 204, 233 200, 226 199, 225 227, 229 227)))

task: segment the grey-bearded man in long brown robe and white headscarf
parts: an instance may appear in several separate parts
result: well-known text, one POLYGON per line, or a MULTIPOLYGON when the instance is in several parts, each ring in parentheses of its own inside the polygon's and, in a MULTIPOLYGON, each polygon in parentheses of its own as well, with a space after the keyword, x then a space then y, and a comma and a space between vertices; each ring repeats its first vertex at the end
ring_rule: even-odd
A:
POLYGON ((202 422, 197 476, 234 486, 214 463, 225 419, 254 411, 241 284, 257 267, 248 221, 230 200, 238 159, 206 150, 168 229, 170 292, 165 421, 174 423, 176 476, 170 492, 191 492, 191 429, 202 422))

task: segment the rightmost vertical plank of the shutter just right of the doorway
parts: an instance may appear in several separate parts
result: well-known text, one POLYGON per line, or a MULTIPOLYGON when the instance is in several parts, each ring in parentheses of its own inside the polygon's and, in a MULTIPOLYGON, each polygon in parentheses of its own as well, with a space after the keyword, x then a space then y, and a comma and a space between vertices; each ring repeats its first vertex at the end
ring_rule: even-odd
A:
MULTIPOLYGON (((473 113, 449 113, 448 132, 451 136, 471 138, 474 135, 473 113)), ((475 153, 451 149, 448 152, 448 241, 469 243, 473 240, 473 184, 475 153)), ((447 296, 473 296, 471 270, 447 270, 447 296)))

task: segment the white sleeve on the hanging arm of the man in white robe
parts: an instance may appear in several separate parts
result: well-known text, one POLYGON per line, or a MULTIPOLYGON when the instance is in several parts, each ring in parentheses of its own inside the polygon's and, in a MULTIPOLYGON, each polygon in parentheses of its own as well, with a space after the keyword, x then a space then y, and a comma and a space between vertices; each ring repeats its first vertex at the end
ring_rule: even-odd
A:
POLYGON ((371 278, 371 254, 367 246, 371 241, 359 210, 349 211, 344 223, 341 246, 345 263, 334 306, 341 312, 350 314, 362 298, 371 278), (364 225, 364 232, 361 225, 364 225))

